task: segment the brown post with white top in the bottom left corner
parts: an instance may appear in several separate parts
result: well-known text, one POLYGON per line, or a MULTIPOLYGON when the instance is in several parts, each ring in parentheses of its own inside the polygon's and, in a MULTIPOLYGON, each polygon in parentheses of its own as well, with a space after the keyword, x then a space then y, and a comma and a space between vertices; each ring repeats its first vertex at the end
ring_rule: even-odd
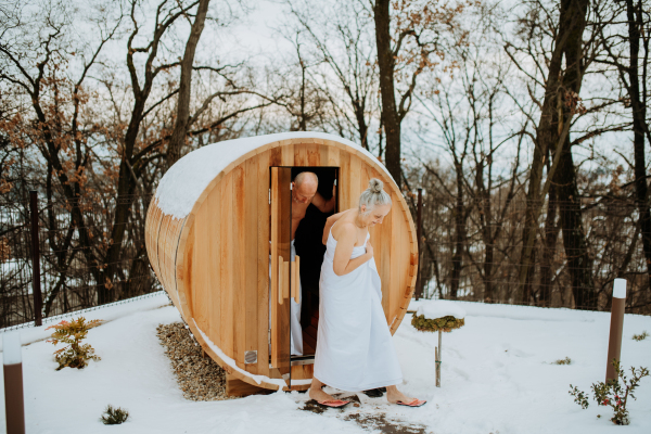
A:
POLYGON ((7 434, 25 434, 25 400, 23 396, 23 360, 21 334, 4 333, 2 353, 4 361, 4 416, 7 434))

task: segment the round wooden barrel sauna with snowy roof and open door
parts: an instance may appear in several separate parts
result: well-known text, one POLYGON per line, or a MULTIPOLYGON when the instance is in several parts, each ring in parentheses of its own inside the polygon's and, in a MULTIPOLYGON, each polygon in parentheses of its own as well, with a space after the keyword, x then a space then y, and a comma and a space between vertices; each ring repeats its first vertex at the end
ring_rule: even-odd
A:
POLYGON ((417 244, 407 203, 385 167, 337 136, 291 132, 229 140, 179 159, 162 178, 146 216, 145 243, 161 284, 204 352, 227 372, 233 395, 307 390, 318 329, 318 280, 328 215, 309 209, 290 255, 291 182, 319 177, 333 212, 357 206, 370 178, 393 207, 370 230, 392 334, 411 298, 417 244), (303 286, 304 350, 290 354, 290 297, 303 286))

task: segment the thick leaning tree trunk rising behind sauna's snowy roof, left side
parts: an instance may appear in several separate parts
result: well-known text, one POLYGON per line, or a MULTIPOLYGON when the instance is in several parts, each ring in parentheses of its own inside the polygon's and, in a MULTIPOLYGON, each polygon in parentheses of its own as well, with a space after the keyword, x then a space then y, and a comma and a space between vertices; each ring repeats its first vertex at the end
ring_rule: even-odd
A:
POLYGON ((179 97, 177 102, 177 118, 167 145, 167 156, 165 164, 169 169, 181 157, 181 151, 186 144, 186 136, 188 135, 188 119, 190 118, 190 98, 192 91, 192 65, 194 63, 194 53, 199 39, 204 29, 206 14, 208 12, 208 3, 210 0, 200 0, 196 10, 192 29, 186 42, 186 52, 181 62, 181 82, 179 84, 179 97))

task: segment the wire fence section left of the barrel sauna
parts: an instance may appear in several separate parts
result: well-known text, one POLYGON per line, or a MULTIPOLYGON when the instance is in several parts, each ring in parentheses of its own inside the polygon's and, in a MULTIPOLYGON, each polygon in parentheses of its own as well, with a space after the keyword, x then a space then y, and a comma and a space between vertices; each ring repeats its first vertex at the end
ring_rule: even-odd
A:
POLYGON ((38 305, 40 316, 50 318, 159 291, 144 246, 150 199, 48 202, 41 197, 38 283, 33 275, 37 250, 31 245, 29 202, 1 203, 0 328, 35 321, 38 305), (116 205, 124 201, 130 204, 129 218, 118 227, 113 217, 116 205), (107 260, 112 235, 119 232, 123 241, 117 260, 107 260))

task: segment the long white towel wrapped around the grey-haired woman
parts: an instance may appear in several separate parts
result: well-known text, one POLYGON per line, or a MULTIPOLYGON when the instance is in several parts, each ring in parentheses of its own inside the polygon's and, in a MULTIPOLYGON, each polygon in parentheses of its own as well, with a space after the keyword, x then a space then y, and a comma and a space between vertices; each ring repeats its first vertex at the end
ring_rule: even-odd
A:
MULTIPOLYGON (((367 237, 368 241, 368 237, 367 237)), ((371 260, 344 276, 334 273, 336 240, 328 237, 319 281, 319 331, 315 376, 349 392, 400 384, 403 372, 384 310, 382 286, 371 260)), ((366 253, 354 247, 350 258, 366 253)))

